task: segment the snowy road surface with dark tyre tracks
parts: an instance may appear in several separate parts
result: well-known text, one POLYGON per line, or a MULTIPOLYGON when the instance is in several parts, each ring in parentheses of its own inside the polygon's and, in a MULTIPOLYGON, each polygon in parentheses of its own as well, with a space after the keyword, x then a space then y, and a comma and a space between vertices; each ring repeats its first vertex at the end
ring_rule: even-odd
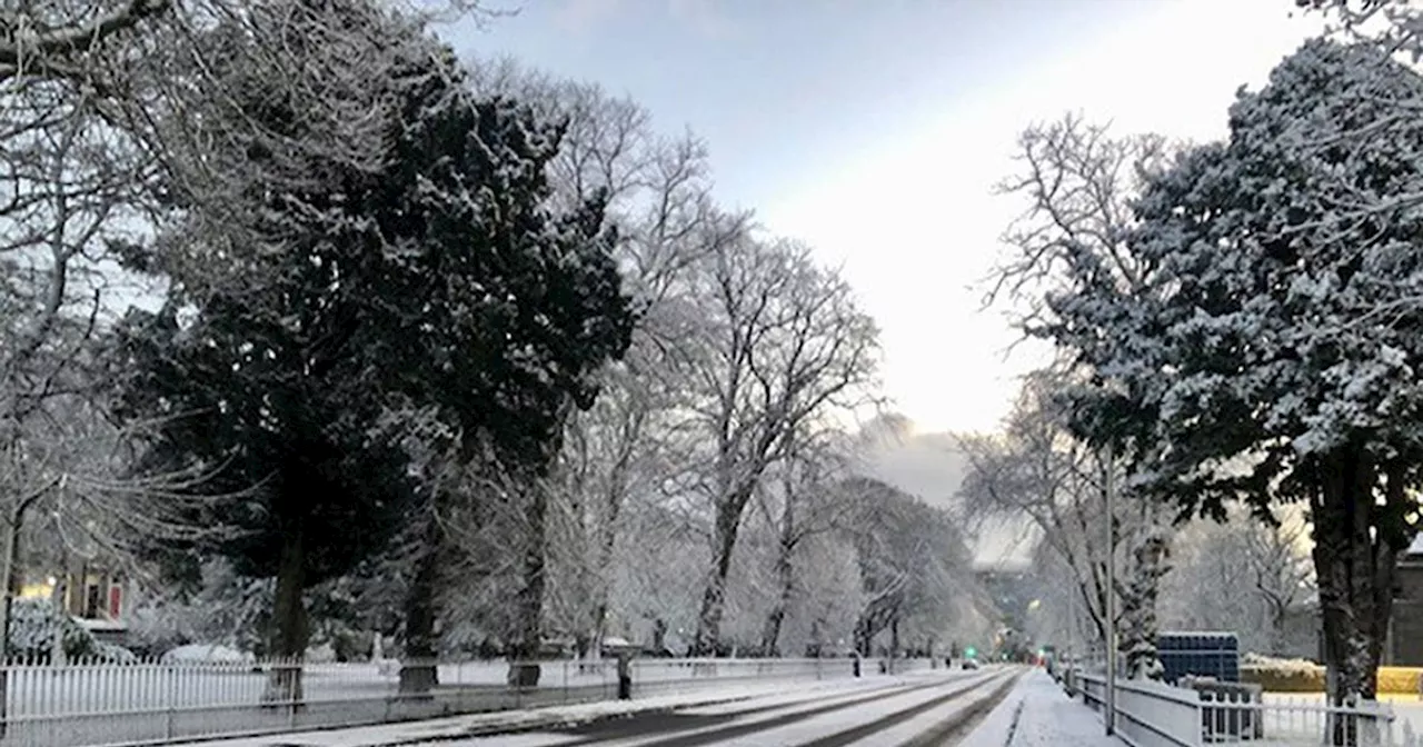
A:
MULTIPOLYGON (((885 687, 787 693, 428 747, 951 746, 1012 692, 1019 667, 906 677, 885 687)), ((299 744, 293 740, 292 744, 299 744)), ((998 747, 1002 746, 1002 741, 998 747)))

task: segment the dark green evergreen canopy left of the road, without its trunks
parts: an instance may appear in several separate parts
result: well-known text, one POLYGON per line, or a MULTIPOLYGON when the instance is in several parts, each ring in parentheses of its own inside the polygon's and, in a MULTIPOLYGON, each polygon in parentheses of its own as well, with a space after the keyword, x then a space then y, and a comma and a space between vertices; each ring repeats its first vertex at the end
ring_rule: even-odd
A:
MULTIPOLYGON (((309 586, 401 528, 418 498, 403 413, 433 411, 502 458, 546 460, 565 408, 588 407, 593 371, 628 346, 602 203, 548 208, 559 124, 474 100, 454 55, 423 48, 391 67, 401 104, 384 168, 326 164, 302 189, 255 178, 243 236, 263 245, 195 245, 179 225, 135 258, 172 289, 120 330, 124 415, 171 418, 151 465, 221 467, 194 521, 231 532, 208 551, 279 588, 296 573, 285 553, 300 556, 289 581, 309 586)), ((306 137, 309 120, 260 80, 231 75, 240 115, 306 137)), ((232 112, 212 114, 196 127, 232 112)), ((259 145, 228 155, 276 158, 259 145)))

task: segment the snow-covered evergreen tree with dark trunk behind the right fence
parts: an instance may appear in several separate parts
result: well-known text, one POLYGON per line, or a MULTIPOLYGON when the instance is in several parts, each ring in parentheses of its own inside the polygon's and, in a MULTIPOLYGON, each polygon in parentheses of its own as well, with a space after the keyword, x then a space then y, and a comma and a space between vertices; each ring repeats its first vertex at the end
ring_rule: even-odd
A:
POLYGON ((1148 174, 1111 250, 1067 236, 1036 327, 1093 371, 1077 428, 1127 448, 1134 489, 1217 518, 1308 502, 1338 700, 1375 692, 1416 532, 1423 215, 1396 195, 1423 185, 1419 104, 1376 47, 1305 44, 1227 142, 1148 174))

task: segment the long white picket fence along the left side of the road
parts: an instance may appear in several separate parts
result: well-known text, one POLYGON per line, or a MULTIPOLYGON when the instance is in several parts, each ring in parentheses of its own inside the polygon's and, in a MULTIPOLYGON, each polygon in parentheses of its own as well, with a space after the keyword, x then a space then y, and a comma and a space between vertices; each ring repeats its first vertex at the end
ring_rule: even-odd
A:
MULTIPOLYGON (((532 662, 535 687, 512 687, 507 662, 438 663, 430 693, 401 694, 390 662, 73 663, 6 666, 0 747, 162 744, 618 697, 616 660, 532 662), (300 690, 283 672, 300 670, 300 690)), ((862 662, 865 676, 928 669, 925 659, 862 662)), ((633 697, 764 680, 852 677, 852 659, 635 659, 633 697)))

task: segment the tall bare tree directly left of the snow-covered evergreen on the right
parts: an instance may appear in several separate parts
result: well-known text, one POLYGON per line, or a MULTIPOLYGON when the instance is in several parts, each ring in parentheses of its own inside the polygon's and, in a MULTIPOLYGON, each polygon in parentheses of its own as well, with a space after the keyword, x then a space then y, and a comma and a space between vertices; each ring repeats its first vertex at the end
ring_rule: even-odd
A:
MULTIPOLYGON (((1131 199, 1140 192, 1144 179, 1158 171, 1171 149, 1158 137, 1113 137, 1107 128, 1089 125, 1080 117, 1027 128, 1019 141, 1017 175, 1005 179, 999 191, 1019 196, 1026 202, 1026 211, 1006 231, 1003 239, 1009 246, 1006 260, 990 280, 988 302, 1009 299, 1016 302, 1016 324, 1029 336, 1053 337, 1063 330, 1064 316, 1054 303, 1072 303, 1063 293, 1064 276, 1086 276, 1093 287, 1121 295, 1146 293, 1154 277, 1155 266, 1141 253, 1131 250, 1134 213, 1131 199)), ((1154 662, 1154 599, 1164 565, 1168 542, 1163 524, 1150 497, 1137 495, 1130 509, 1131 522, 1123 532, 1123 515, 1111 516, 1113 542, 1101 548, 1096 532, 1089 528, 1101 521, 1103 505, 1101 477, 1111 474, 1127 477, 1127 462, 1111 457, 1120 452, 1130 428, 1111 424, 1081 421, 1083 410, 1059 407, 1049 400, 1062 396, 1086 396, 1096 400, 1116 397, 1111 390, 1113 371, 1094 371, 1080 366, 1080 360, 1091 360, 1093 346, 1116 344, 1118 340, 1094 340, 1083 336, 1083 349, 1063 350, 1063 371, 1056 381, 1039 380, 1035 397, 1040 401, 1047 431, 1035 438, 1027 452, 1039 454, 1039 460, 1060 462, 1057 468, 1040 464, 1033 472, 1036 480, 1050 485, 1073 485, 1063 495, 1079 494, 1081 498, 1096 497, 1096 502, 1079 502, 1072 511, 1060 511, 1060 497, 1049 501, 1033 499, 1037 511, 1035 524, 1043 531, 1044 541, 1056 542, 1056 549, 1064 555, 1079 578, 1084 582, 1087 610, 1099 632, 1107 625, 1124 625, 1123 646, 1137 673, 1155 673, 1154 662), (1113 430, 1116 428, 1116 430, 1113 430), (1099 438, 1089 448, 1074 444, 1073 433, 1114 433, 1113 438, 1099 438), (1110 441, 1110 443, 1109 443, 1110 441), (1056 474, 1054 474, 1056 472, 1056 474), (1066 482, 1062 480, 1066 477, 1066 482), (1046 511, 1044 511, 1046 509, 1046 511), (1086 509, 1086 511, 1084 511, 1086 509), (1099 516, 1096 521, 1089 515, 1099 516), (1064 521, 1066 519, 1066 521, 1064 521), (1064 534, 1069 525, 1073 532, 1064 534), (1073 539, 1073 536, 1080 539, 1073 539), (1123 583, 1107 589, 1103 571, 1106 552, 1123 553, 1121 566, 1136 575, 1123 575, 1123 583), (1096 558, 1093 558, 1096 555, 1096 558), (1090 593, 1087 593, 1090 589, 1090 593), (1101 610, 1107 593, 1123 598, 1117 620, 1103 620, 1101 610)), ((1146 344, 1146 343, 1140 343, 1146 344)), ((1099 410, 1100 411, 1100 410, 1099 410)), ((1010 427, 1012 430, 1012 427, 1010 427)), ((1141 462, 1150 457, 1134 455, 1141 462)), ((979 460, 988 465, 992 460, 979 460)), ((1032 460, 1029 460, 1032 461, 1032 460)), ((982 474, 990 474, 992 470, 982 474)), ((980 485, 990 484, 983 482, 980 485)), ((1133 492, 1126 480, 1118 481, 1133 492)), ((992 502, 992 501, 989 501, 992 502)))

